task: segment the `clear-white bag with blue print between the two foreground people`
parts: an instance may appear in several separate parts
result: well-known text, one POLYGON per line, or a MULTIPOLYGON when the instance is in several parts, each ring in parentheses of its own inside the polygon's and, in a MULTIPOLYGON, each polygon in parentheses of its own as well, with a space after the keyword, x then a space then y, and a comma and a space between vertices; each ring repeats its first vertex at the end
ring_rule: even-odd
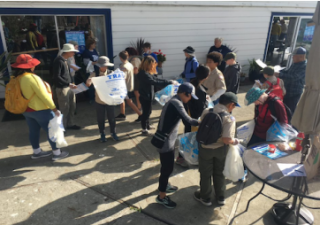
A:
POLYGON ((190 132, 178 136, 179 152, 190 165, 198 165, 198 142, 196 140, 197 132, 190 132))

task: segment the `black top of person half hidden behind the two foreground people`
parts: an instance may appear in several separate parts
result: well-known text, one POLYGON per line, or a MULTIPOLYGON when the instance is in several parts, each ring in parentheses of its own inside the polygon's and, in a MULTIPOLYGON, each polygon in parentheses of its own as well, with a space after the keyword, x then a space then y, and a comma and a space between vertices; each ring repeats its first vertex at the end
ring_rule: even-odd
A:
POLYGON ((198 119, 205 108, 208 107, 207 102, 207 88, 203 85, 199 85, 196 88, 196 96, 198 100, 191 98, 187 103, 187 109, 190 110, 190 115, 194 119, 198 119))

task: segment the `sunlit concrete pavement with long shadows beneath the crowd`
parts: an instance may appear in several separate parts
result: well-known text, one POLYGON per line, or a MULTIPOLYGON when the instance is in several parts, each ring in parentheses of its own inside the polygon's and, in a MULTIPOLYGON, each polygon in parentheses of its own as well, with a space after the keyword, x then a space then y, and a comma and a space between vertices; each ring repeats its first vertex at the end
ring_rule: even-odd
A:
MULTIPOLYGON (((248 88, 241 87, 240 104, 248 88)), ((227 204, 219 207, 213 201, 213 206, 205 207, 193 199, 199 187, 197 168, 175 166, 170 182, 179 190, 171 198, 178 206, 166 209, 155 203, 159 155, 151 138, 140 135, 140 124, 133 122, 137 116, 127 108, 127 120, 117 123, 121 141, 108 138, 107 143, 100 143, 94 106, 80 103, 77 107, 76 121, 84 129, 67 132, 66 150, 70 156, 57 162, 30 159, 32 149, 25 121, 0 124, 1 225, 227 224, 261 187, 250 175, 245 184, 227 181, 227 204)), ((151 121, 156 125, 161 107, 157 104, 153 108, 151 121)), ((3 113, 1 110, 0 117, 3 113)), ((252 119, 253 107, 237 108, 233 115, 242 124, 252 119)), ((44 133, 41 147, 50 150, 44 133)), ((285 196, 271 187, 265 193, 276 199, 285 196)), ((309 200, 305 203, 313 207, 319 204, 309 200)), ((259 196, 234 224, 274 224, 269 212, 273 204, 259 196)), ((315 224, 320 224, 319 211, 311 211, 315 224)))

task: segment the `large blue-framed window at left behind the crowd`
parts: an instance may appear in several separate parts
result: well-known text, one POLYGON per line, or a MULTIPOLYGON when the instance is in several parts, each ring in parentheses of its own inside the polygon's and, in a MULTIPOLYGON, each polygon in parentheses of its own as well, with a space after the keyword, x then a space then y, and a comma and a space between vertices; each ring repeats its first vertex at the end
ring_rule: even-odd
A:
POLYGON ((11 63, 20 54, 32 55, 41 62, 35 73, 50 84, 53 61, 70 40, 81 42, 83 51, 85 40, 93 38, 99 55, 107 55, 104 15, 2 15, 1 21, 3 44, 13 55, 11 63))

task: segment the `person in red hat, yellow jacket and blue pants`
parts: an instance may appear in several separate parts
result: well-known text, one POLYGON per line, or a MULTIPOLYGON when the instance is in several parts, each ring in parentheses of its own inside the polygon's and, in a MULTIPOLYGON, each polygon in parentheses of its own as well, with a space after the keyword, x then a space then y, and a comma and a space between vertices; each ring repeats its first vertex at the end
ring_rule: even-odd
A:
POLYGON ((35 75, 34 69, 40 61, 32 58, 28 54, 21 54, 11 67, 16 68, 14 76, 22 76, 20 79, 20 88, 22 95, 29 99, 27 110, 23 113, 29 127, 29 140, 33 148, 32 159, 48 157, 53 154, 52 160, 59 160, 67 157, 67 151, 61 151, 56 147, 48 136, 52 152, 42 151, 39 145, 40 129, 48 134, 48 124, 54 116, 61 116, 59 110, 52 100, 51 88, 39 76, 35 75))

